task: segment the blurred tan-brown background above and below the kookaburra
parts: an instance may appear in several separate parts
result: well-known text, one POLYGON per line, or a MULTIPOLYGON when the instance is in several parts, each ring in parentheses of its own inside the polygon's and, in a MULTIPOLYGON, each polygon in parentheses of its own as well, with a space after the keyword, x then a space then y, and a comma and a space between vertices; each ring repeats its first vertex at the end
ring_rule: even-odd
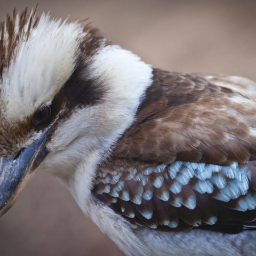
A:
MULTIPOLYGON (((38 13, 90 17, 110 41, 154 67, 256 81, 256 1, 0 0, 0 20, 38 2, 38 13)), ((0 219, 1 256, 102 254, 123 255, 49 174, 38 173, 0 219)))

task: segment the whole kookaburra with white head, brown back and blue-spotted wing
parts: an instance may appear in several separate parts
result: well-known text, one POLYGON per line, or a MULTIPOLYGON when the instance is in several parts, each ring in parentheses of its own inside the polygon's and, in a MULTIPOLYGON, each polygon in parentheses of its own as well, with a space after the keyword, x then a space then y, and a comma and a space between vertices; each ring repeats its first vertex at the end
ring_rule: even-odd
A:
POLYGON ((49 172, 126 255, 256 255, 256 84, 153 68, 80 21, 0 25, 0 215, 49 172))

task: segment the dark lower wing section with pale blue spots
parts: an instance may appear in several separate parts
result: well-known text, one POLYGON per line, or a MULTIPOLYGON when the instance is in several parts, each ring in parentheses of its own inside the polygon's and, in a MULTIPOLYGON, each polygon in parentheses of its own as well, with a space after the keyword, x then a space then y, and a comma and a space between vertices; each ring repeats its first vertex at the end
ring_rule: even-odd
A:
POLYGON ((113 159, 100 167, 94 194, 140 226, 236 233, 256 226, 255 174, 249 164, 156 165, 113 159))

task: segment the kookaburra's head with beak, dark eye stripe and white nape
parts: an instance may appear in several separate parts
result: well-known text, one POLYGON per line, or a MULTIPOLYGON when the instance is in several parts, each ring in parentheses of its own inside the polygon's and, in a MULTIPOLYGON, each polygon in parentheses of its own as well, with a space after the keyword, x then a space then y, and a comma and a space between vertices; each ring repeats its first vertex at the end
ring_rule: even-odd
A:
POLYGON ((27 10, 7 15, 0 25, 0 213, 38 169, 68 184, 84 175, 89 189, 150 83, 148 65, 89 26, 27 10))

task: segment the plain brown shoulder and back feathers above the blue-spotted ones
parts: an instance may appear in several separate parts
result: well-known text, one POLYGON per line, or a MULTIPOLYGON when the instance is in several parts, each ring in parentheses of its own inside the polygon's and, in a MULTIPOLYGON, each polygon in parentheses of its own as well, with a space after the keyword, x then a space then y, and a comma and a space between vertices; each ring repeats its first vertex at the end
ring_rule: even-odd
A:
POLYGON ((159 163, 255 160, 256 93, 245 89, 244 80, 238 90, 239 79, 233 87, 223 79, 154 69, 135 122, 113 155, 159 163))

